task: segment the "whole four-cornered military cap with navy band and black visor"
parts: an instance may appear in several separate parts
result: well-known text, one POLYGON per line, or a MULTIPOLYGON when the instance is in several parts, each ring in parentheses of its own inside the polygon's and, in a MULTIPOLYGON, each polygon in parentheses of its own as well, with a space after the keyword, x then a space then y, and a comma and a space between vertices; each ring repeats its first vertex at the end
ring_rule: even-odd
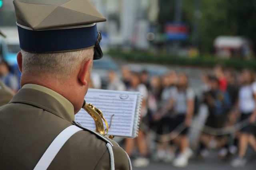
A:
POLYGON ((106 21, 90 0, 14 0, 20 48, 58 53, 94 47, 102 57, 97 22, 106 21))

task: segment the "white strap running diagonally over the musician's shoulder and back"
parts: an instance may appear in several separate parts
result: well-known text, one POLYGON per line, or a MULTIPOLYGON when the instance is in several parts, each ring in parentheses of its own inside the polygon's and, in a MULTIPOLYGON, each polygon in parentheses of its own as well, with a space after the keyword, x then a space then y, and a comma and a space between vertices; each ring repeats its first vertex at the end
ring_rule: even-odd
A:
POLYGON ((39 162, 36 164, 34 170, 46 170, 48 166, 51 164, 52 160, 58 154, 62 146, 68 141, 72 135, 74 135, 78 131, 82 131, 80 127, 76 125, 71 125, 64 129, 55 139, 52 141, 51 145, 44 152, 42 158, 40 158, 39 162))

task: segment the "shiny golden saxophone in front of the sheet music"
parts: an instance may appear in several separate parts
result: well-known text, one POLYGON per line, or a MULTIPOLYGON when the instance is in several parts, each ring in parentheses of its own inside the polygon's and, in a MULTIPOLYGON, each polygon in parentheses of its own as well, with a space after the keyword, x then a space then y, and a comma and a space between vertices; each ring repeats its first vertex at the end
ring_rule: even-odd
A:
MULTIPOLYGON (((110 124, 110 126, 108 125, 108 122, 106 121, 105 117, 103 116, 102 111, 100 109, 97 109, 96 107, 94 107, 92 104, 87 104, 85 102, 85 100, 84 100, 84 104, 83 104, 82 108, 85 109, 85 111, 87 113, 89 113, 89 115, 94 120, 95 126, 96 126, 95 131, 104 136, 107 135, 111 124, 110 124), (104 121, 104 123, 106 125, 106 129, 104 128, 104 123, 102 120, 104 121)), ((109 138, 113 139, 113 136, 109 136, 109 138)))

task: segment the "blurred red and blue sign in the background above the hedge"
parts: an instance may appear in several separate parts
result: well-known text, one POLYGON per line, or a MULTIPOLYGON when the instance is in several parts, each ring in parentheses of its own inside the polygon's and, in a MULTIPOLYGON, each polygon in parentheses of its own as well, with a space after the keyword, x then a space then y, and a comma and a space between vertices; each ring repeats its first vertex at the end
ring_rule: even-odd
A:
POLYGON ((188 25, 185 23, 167 23, 164 29, 167 40, 185 40, 188 38, 188 25))

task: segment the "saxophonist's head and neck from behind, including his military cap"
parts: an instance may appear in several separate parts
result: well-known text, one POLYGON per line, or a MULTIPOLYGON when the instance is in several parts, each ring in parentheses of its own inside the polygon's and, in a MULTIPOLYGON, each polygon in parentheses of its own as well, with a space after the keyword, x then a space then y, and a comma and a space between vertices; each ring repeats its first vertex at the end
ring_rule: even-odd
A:
POLYGON ((69 100, 76 113, 84 103, 93 59, 103 56, 97 23, 106 18, 90 0, 14 0, 14 8, 21 86, 49 88, 69 100))

